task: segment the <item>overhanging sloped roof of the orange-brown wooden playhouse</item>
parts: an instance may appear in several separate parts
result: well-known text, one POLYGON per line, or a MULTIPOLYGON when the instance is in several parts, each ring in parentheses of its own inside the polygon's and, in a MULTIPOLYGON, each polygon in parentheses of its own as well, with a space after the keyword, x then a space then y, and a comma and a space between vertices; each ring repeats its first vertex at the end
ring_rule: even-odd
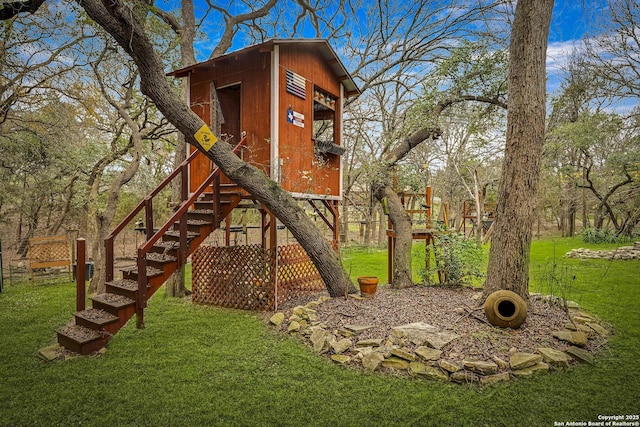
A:
POLYGON ((318 48, 318 51, 322 55, 323 59, 327 62, 329 67, 333 70, 334 74, 342 84, 344 85, 347 96, 357 96, 360 95, 360 89, 358 85, 356 85, 353 77, 349 74, 344 64, 336 55, 336 52, 333 50, 331 45, 326 39, 293 39, 293 38, 285 38, 285 39, 271 39, 264 43, 260 43, 257 45, 249 46, 234 52, 227 53, 225 55, 219 56, 214 59, 209 59, 204 62, 200 62, 198 64, 191 65, 189 67, 180 68, 178 70, 174 70, 170 73, 167 73, 169 76, 174 77, 186 77, 189 73, 195 70, 202 70, 215 65, 216 62, 228 60, 235 55, 245 54, 253 50, 259 51, 271 51, 273 46, 275 45, 284 45, 284 44, 309 44, 314 45, 318 48))

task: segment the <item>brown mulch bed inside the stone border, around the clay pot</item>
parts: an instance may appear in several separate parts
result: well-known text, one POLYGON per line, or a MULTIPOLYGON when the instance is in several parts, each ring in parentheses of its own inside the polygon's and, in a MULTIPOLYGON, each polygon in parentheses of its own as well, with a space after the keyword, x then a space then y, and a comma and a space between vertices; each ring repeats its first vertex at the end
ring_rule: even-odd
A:
MULTIPOLYGON (((479 302, 481 293, 481 290, 460 286, 415 286, 399 290, 379 286, 374 298, 331 298, 314 309, 318 321, 328 331, 354 324, 373 325, 373 328, 360 333, 358 340, 388 338, 392 328, 414 322, 454 332, 461 338, 442 349, 443 357, 454 362, 463 359, 492 360, 494 356, 508 361, 514 352, 536 353, 540 347, 564 351, 571 346, 551 336, 553 331, 563 330, 571 324, 560 304, 532 296, 524 324, 515 330, 502 329, 488 323, 479 302)), ((279 307, 279 311, 289 313, 294 306, 304 305, 320 295, 290 301, 279 307)), ((584 349, 595 353, 605 343, 605 339, 592 339, 584 349)), ((411 350, 416 347, 410 342, 406 346, 411 350)))

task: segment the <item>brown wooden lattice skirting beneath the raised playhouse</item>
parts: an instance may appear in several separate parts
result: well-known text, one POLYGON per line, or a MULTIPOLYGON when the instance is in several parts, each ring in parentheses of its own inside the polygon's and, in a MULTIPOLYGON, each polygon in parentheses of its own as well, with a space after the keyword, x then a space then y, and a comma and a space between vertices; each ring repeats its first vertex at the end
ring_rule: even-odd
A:
POLYGON ((192 260, 192 299, 245 310, 273 310, 309 292, 325 289, 299 244, 277 248, 278 260, 260 245, 201 246, 192 260), (277 271, 277 274, 274 274, 277 271))

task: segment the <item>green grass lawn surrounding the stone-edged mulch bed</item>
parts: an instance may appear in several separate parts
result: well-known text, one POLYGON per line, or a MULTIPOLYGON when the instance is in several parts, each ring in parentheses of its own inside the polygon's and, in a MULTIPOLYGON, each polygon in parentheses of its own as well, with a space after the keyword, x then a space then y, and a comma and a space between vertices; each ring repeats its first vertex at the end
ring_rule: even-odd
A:
MULTIPOLYGON (((146 328, 131 322, 105 355, 47 363, 36 352, 70 319, 74 285, 6 285, 0 425, 553 426, 638 414, 640 261, 563 257, 579 246, 594 247, 534 242, 532 291, 553 288, 610 322, 608 348, 593 367, 488 387, 343 368, 254 313, 194 306, 162 290, 146 328)), ((358 251, 345 251, 352 277, 386 277, 386 252, 358 251)))

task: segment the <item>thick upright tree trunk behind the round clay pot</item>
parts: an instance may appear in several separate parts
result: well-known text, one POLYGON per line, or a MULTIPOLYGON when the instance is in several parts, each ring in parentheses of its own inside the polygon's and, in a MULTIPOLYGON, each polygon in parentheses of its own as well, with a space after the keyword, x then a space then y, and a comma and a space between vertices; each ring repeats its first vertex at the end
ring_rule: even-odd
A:
POLYGON ((545 130, 545 60, 553 0, 520 0, 509 47, 507 142, 485 296, 529 295, 529 253, 545 130))

